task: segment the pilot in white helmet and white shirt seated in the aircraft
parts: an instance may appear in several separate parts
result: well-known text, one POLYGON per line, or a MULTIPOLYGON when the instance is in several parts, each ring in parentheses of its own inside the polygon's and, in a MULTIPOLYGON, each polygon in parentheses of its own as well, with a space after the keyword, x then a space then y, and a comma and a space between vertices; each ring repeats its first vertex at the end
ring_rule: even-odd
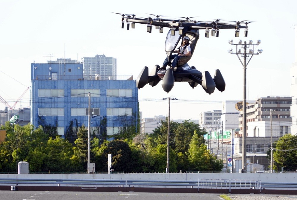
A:
MULTIPOLYGON (((182 45, 178 47, 178 50, 173 51, 174 53, 178 53, 178 54, 170 55, 169 59, 173 59, 170 69, 173 69, 174 67, 176 67, 176 64, 179 58, 191 55, 191 48, 190 48, 189 41, 190 41, 190 38, 188 36, 184 36, 182 45)), ((168 57, 166 57, 166 59, 163 62, 163 66, 160 67, 159 70, 165 70, 168 63, 169 63, 168 57)))

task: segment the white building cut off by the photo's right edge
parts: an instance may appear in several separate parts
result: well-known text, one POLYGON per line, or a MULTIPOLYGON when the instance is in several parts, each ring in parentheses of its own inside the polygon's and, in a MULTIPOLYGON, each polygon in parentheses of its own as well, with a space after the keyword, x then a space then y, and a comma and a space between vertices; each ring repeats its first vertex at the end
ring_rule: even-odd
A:
POLYGON ((295 62, 292 64, 290 69, 290 76, 292 79, 291 83, 291 133, 297 135, 297 25, 295 26, 295 62))

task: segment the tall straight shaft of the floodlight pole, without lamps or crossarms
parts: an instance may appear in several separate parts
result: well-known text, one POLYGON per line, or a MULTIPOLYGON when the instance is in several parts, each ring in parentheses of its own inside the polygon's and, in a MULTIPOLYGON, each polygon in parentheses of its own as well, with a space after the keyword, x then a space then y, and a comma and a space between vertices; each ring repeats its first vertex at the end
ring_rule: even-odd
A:
POLYGON ((243 93, 243 116, 242 116, 242 170, 246 172, 246 164, 247 164, 247 149, 246 149, 246 139, 247 139, 247 42, 244 41, 244 78, 243 78, 243 85, 244 85, 244 93, 243 93))

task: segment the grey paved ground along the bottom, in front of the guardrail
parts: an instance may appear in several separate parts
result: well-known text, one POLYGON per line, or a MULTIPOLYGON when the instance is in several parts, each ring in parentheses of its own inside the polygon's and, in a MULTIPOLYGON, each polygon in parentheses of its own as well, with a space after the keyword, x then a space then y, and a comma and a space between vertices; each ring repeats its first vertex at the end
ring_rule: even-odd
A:
MULTIPOLYGON (((0 191, 1 200, 219 200, 220 194, 210 193, 134 193, 134 192, 59 192, 59 191, 0 191)), ((290 200, 297 195, 227 194, 231 199, 290 200)))

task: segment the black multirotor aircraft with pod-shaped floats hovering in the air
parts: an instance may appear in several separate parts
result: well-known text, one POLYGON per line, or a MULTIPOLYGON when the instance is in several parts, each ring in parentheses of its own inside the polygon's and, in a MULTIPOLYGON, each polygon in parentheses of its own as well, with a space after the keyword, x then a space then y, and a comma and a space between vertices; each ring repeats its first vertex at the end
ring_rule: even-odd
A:
MULTIPOLYGON (((120 13, 116 13, 120 14, 120 13)), ((149 14, 152 15, 152 14, 149 14)), ((160 80, 162 80, 162 88, 167 93, 173 88, 174 82, 188 82, 189 85, 194 88, 198 84, 206 91, 211 94, 215 88, 219 91, 225 90, 225 80, 220 70, 215 70, 214 78, 211 77, 208 71, 200 72, 194 66, 189 66, 188 61, 191 59, 196 43, 199 39, 199 30, 205 30, 205 37, 219 36, 220 29, 235 29, 235 37, 239 37, 239 30, 245 29, 244 36, 247 37, 248 33, 248 20, 244 21, 232 21, 232 22, 221 22, 217 19, 215 21, 196 21, 191 18, 194 17, 181 17, 183 20, 177 19, 162 19, 155 15, 155 18, 136 18, 135 14, 121 14, 121 28, 124 28, 125 21, 127 22, 127 30, 135 28, 135 23, 146 24, 146 31, 151 33, 152 26, 159 29, 160 33, 163 33, 163 28, 170 28, 167 33, 165 41, 165 52, 168 59, 168 65, 171 66, 172 59, 170 56, 173 55, 174 51, 182 44, 183 38, 189 38, 189 46, 191 55, 180 57, 176 64, 176 67, 170 67, 166 70, 160 69, 159 65, 155 65, 149 73, 149 68, 144 67, 136 80, 136 86, 138 89, 143 88, 147 83, 152 87, 156 86, 160 80), (241 25, 244 24, 244 25, 241 25), (180 44, 180 45, 179 45, 180 44)), ((165 66, 167 67, 167 66, 165 66)))

